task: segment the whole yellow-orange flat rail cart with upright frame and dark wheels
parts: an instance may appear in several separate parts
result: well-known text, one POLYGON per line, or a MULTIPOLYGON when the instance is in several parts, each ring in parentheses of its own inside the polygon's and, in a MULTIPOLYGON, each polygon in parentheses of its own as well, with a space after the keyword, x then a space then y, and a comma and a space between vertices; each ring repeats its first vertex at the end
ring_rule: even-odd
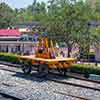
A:
POLYGON ((19 57, 23 72, 25 74, 30 74, 35 67, 41 75, 47 75, 51 69, 66 74, 67 69, 75 63, 75 59, 55 57, 55 53, 56 50, 53 47, 53 42, 49 42, 47 37, 40 37, 35 55, 19 57))

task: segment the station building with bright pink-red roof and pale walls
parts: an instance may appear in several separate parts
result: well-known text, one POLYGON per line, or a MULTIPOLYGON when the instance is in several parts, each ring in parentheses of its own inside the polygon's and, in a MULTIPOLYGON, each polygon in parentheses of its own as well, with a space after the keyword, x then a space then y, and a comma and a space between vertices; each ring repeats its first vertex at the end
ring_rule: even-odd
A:
POLYGON ((22 33, 18 30, 1 29, 0 52, 12 52, 20 54, 32 52, 32 41, 20 41, 21 37, 22 33))

